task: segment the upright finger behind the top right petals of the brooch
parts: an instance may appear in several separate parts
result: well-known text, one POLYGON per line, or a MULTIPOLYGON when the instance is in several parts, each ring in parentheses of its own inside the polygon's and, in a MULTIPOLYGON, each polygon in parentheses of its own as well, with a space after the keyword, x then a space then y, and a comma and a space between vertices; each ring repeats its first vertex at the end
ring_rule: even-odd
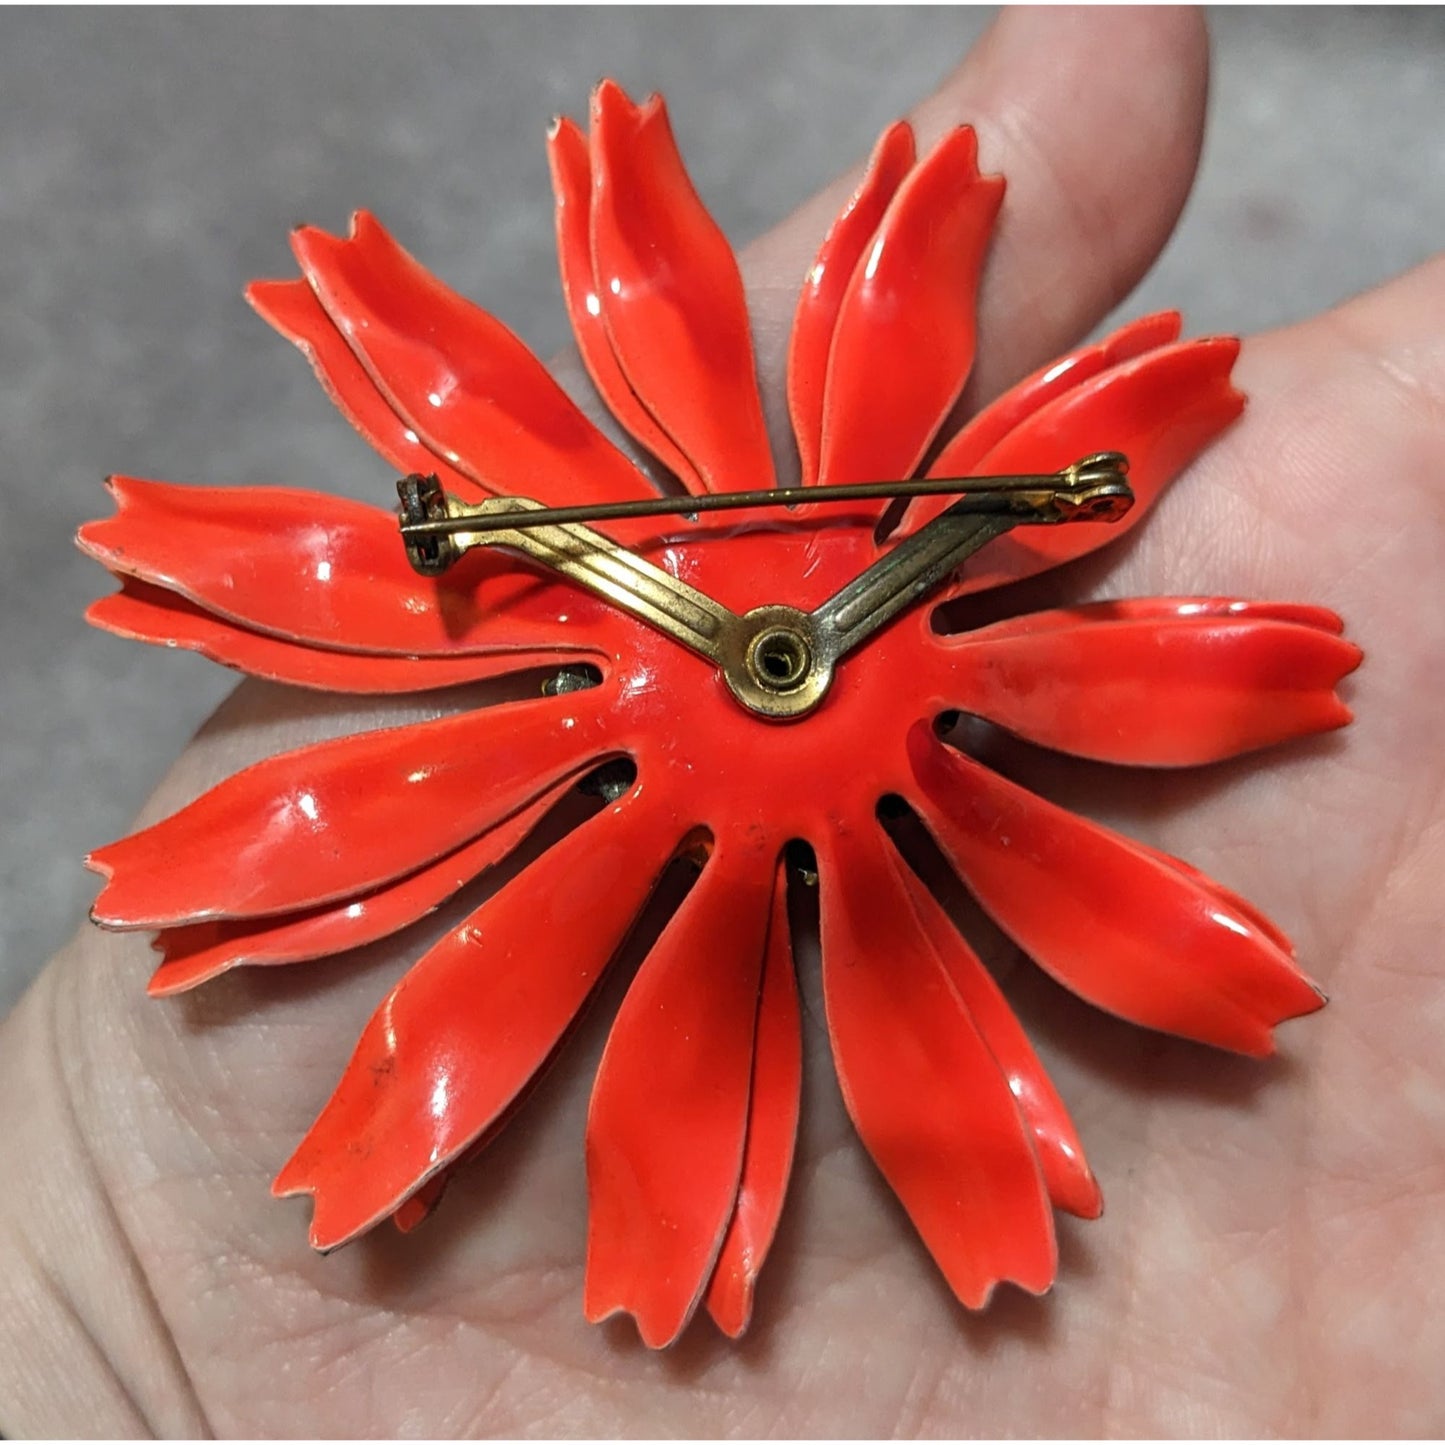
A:
MULTIPOLYGON (((1007 194, 978 301, 970 400, 1095 327, 1153 263, 1189 194, 1208 40, 1194 10, 1006 10, 912 113, 919 150, 972 124, 1007 194), (1120 82, 1123 78, 1123 84, 1120 82)), ((798 288, 861 165, 741 256, 764 396, 776 397, 798 288)))

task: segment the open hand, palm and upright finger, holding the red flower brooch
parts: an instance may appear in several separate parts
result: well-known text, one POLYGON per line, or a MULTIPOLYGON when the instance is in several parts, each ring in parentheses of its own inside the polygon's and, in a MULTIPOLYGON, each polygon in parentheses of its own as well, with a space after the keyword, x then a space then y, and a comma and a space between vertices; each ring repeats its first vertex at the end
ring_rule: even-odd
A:
MULTIPOLYGON (((1009 204, 977 405, 1127 295, 1192 178, 1196 14, 1004 14, 913 114, 971 120, 1009 204), (1130 78, 1077 105, 1100 68, 1130 78), (1061 224, 1064 218, 1068 224, 1061 224)), ((769 415, 798 277, 853 178, 744 266, 769 415)), ((1221 262, 1222 263, 1222 262, 1221 262)), ((1032 967, 1010 997, 1107 1199, 1046 1299, 962 1311, 842 1114, 801 957, 799 1163, 743 1345, 581 1318, 587 1091, 623 977, 418 1234, 328 1259, 272 1173, 374 1001, 449 915, 334 962, 147 1001, 144 939, 85 928, 0 1026, 0 1429, 9 1435, 1432 1435, 1445 1426, 1445 257, 1251 338, 1246 419, 1126 545, 1019 588, 1337 608, 1345 734, 1188 775, 1010 750, 1025 782, 1189 858, 1295 936, 1332 1006, 1266 1064, 1147 1035, 1032 967)), ((780 454, 786 451, 777 426, 780 454)), ((246 683, 152 821, 262 756, 416 715, 246 683)), ((626 970, 621 971, 626 974, 626 970)))

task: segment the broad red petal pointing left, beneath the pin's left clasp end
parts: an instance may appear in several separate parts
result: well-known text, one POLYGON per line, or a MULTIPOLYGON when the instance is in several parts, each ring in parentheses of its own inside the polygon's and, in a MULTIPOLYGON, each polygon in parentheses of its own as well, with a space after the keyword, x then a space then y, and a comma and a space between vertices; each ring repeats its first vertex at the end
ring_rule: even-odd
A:
POLYGON ((81 527, 81 551, 256 631, 347 652, 575 655, 616 627, 604 603, 497 552, 419 577, 394 514, 360 501, 131 477, 108 486, 118 512, 81 527))

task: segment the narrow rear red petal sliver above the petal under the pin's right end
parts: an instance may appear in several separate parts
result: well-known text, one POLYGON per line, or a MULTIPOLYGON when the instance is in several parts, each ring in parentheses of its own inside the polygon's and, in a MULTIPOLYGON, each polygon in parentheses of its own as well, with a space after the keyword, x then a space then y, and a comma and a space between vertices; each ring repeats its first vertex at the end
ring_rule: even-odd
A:
MULTIPOLYGON (((1042 410, 1066 392, 1082 386, 1101 371, 1178 341, 1181 325, 1182 318, 1178 311, 1160 311, 1152 316, 1140 316, 1137 321, 1120 327, 1103 341, 1079 347, 1078 351, 1071 351, 1058 361, 1040 367, 1033 376, 1009 387, 962 426, 938 454, 938 460, 928 468, 928 474, 931 477, 972 475, 978 471, 983 458, 1035 412, 1042 410)), ((909 513, 905 530, 916 530, 948 504, 949 499, 925 499, 915 503, 916 514, 909 513)))

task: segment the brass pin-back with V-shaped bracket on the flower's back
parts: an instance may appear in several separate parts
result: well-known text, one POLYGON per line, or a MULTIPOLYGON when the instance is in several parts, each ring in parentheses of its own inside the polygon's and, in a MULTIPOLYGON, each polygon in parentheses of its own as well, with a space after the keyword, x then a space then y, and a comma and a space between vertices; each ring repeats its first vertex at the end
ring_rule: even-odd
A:
POLYGON ((474 546, 501 546, 571 578, 715 663, 738 702, 762 717, 803 717, 824 699, 838 660, 938 587, 980 548, 1020 525, 1117 522, 1133 504, 1129 460, 1100 452, 1059 473, 922 478, 847 487, 786 487, 705 497, 659 497, 592 507, 542 507, 527 497, 465 503, 436 477, 406 477, 402 539, 412 566, 445 572, 474 546), (772 604, 738 616, 584 520, 939 496, 959 500, 811 613, 772 604))

